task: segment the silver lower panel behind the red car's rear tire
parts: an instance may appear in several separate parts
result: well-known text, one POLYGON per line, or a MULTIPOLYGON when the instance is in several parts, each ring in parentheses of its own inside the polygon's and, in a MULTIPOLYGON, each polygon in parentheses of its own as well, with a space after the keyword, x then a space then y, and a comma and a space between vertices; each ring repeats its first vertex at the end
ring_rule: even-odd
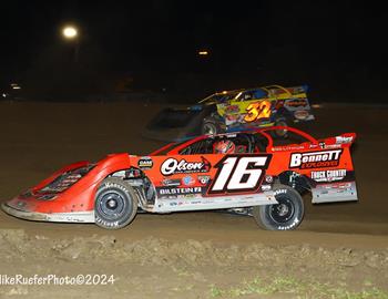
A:
POLYGON ((317 185, 312 193, 313 204, 358 200, 355 182, 317 185))

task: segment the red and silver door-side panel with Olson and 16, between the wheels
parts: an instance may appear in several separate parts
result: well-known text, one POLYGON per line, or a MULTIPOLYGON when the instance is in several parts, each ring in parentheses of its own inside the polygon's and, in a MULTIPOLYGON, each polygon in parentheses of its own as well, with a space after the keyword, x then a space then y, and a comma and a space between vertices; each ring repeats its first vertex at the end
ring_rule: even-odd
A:
POLYGON ((154 210, 175 212, 274 204, 262 182, 272 155, 170 155, 139 157, 156 192, 154 210))

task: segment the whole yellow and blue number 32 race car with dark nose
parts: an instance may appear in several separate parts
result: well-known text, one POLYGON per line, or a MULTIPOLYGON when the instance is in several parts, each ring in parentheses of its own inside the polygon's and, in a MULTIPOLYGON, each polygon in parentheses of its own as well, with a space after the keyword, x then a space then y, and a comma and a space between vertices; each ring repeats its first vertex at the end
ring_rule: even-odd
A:
MULTIPOLYGON (((163 110, 149 123, 144 135, 181 141, 201 134, 313 121, 307 90, 306 85, 270 85, 215 93, 190 107, 163 110)), ((283 136, 286 132, 274 133, 283 136)))

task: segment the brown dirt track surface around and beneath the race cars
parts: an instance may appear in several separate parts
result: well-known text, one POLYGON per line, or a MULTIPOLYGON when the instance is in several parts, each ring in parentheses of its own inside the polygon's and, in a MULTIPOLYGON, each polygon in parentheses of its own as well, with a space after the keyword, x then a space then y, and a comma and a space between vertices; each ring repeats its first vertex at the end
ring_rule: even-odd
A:
MULTIPOLYGON (((0 103, 0 198, 74 161, 151 152, 163 143, 142 138, 141 130, 159 109, 0 103)), ((0 297, 341 298, 364 289, 365 298, 386 298, 388 110, 329 106, 315 114, 317 122, 307 131, 316 136, 358 134, 353 148, 358 203, 313 206, 305 198, 304 223, 287 233, 208 212, 137 215, 114 231, 24 221, 1 212, 0 275, 105 274, 115 281, 96 287, 0 283, 0 297)))

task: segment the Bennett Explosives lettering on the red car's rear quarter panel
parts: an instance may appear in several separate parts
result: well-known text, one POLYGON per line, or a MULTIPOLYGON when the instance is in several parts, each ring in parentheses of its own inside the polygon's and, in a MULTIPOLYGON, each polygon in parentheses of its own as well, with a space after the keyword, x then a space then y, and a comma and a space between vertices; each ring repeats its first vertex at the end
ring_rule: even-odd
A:
POLYGON ((320 168, 338 166, 343 150, 292 154, 289 168, 320 168))

